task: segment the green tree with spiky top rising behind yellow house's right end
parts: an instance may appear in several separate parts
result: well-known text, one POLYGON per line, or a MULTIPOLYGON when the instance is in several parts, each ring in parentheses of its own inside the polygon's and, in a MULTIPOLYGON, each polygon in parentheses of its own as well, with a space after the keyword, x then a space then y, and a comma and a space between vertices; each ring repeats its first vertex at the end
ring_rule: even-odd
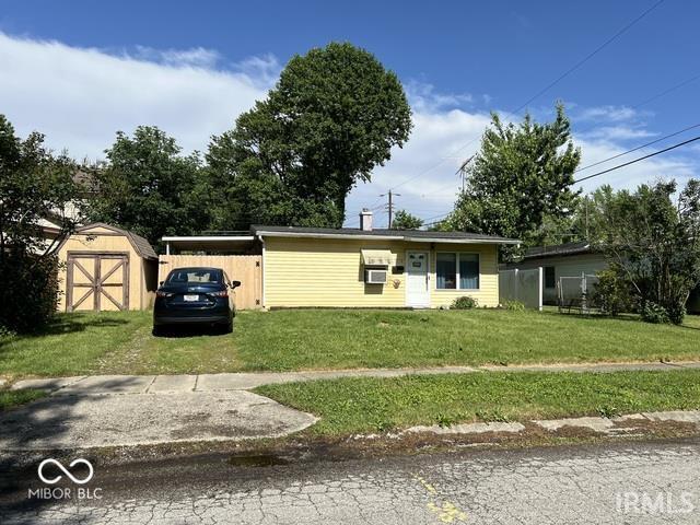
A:
POLYGON ((497 114, 483 133, 481 149, 468 167, 465 190, 442 228, 540 241, 545 220, 569 215, 571 189, 581 152, 571 139, 561 104, 556 118, 539 124, 529 115, 504 125, 497 114))

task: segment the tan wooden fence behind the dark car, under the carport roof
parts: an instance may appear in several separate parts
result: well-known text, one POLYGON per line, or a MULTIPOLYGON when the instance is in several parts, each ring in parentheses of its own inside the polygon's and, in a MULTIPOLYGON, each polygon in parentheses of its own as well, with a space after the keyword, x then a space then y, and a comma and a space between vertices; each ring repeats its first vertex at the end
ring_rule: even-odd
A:
POLYGON ((221 268, 232 281, 241 281, 235 290, 237 310, 260 308, 262 304, 261 259, 259 255, 161 255, 159 282, 175 268, 203 266, 221 268))

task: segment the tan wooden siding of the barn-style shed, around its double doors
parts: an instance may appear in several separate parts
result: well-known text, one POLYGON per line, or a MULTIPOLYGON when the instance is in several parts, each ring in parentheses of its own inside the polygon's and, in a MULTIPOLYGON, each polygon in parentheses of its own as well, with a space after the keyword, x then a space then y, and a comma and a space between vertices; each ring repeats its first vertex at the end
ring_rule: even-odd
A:
MULTIPOLYGON (((94 253, 107 253, 117 252, 126 253, 129 256, 129 310, 145 310, 149 308, 153 301, 153 291, 147 290, 144 284, 144 268, 143 259, 133 249, 131 243, 126 235, 119 235, 110 230, 103 228, 95 228, 90 230, 86 234, 74 234, 66 240, 66 243, 61 246, 58 258, 60 261, 66 262, 68 255, 71 252, 94 252, 94 253)), ((66 311, 66 281, 67 281, 67 267, 61 265, 58 272, 59 277, 59 312, 66 311)), ((110 303, 104 302, 105 310, 116 310, 112 307, 110 303)), ((88 308, 88 305, 85 305, 88 308)), ((91 310, 91 308, 88 308, 91 310)))

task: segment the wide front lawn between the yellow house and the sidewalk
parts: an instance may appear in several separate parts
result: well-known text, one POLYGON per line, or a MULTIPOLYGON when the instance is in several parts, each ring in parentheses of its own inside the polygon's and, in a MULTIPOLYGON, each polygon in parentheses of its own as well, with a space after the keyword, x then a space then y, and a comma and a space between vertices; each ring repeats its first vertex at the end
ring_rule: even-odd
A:
POLYGON ((203 373, 700 359, 682 327, 552 312, 241 312, 231 335, 151 335, 149 312, 62 314, 42 335, 0 336, 0 375, 203 373))

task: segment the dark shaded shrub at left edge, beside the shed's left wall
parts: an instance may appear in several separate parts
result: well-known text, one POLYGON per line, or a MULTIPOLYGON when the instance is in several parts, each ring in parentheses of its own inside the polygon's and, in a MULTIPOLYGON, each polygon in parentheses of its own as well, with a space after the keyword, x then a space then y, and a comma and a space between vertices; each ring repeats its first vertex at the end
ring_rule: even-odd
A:
POLYGON ((0 289, 0 326, 4 331, 28 332, 45 326, 58 303, 56 257, 7 254, 0 289))

